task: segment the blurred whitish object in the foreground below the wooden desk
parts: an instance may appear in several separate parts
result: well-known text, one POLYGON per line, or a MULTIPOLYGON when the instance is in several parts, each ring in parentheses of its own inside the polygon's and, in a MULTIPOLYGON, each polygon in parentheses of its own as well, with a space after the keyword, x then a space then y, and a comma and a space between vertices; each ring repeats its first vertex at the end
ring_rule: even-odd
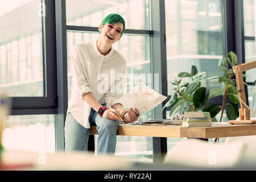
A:
POLYGON ((198 139, 177 143, 164 163, 199 168, 232 168, 240 162, 245 150, 241 141, 219 144, 198 139))

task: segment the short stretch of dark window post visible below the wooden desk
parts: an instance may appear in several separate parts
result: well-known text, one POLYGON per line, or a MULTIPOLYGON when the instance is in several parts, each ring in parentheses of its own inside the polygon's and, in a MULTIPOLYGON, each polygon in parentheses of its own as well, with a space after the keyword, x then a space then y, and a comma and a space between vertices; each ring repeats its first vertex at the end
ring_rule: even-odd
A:
POLYGON ((164 156, 167 154, 167 138, 153 137, 153 163, 163 163, 164 156))

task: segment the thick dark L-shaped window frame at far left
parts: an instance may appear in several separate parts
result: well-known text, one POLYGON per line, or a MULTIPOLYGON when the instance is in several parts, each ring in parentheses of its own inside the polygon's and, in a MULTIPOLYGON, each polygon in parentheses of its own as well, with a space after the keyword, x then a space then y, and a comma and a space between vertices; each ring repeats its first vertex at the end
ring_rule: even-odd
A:
POLYGON ((55 114, 57 112, 55 3, 51 0, 45 0, 44 3, 46 5, 46 16, 42 16, 44 96, 10 97, 11 115, 55 114))

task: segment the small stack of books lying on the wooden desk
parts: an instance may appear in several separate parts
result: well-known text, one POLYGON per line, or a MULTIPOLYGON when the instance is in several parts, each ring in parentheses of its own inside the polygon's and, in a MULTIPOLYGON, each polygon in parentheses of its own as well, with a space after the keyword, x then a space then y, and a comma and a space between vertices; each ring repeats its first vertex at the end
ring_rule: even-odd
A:
POLYGON ((196 126, 211 126, 212 118, 209 112, 203 111, 184 111, 184 117, 187 121, 183 121, 181 126, 196 127, 196 126))

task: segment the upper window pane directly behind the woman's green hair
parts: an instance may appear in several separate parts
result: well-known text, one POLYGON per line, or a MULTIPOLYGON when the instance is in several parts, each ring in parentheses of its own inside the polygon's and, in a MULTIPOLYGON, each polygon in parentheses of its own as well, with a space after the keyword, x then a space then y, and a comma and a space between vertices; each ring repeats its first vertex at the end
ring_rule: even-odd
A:
POLYGON ((148 0, 67 0, 67 24, 98 27, 106 15, 118 13, 126 20, 126 28, 150 29, 148 0))

